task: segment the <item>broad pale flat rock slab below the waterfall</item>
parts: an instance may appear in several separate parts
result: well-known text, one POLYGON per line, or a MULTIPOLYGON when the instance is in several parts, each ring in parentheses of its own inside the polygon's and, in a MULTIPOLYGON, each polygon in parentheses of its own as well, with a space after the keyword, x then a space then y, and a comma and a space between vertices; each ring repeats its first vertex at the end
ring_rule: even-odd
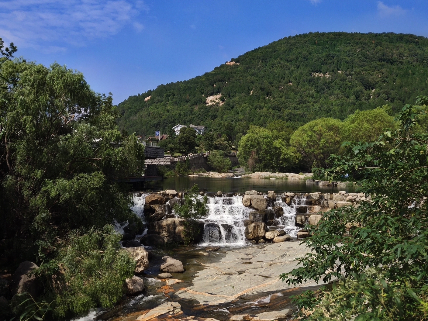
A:
MULTIPOLYGON (((202 304, 216 305, 244 294, 281 291, 290 287, 279 280, 279 274, 290 272, 297 265, 294 259, 308 252, 306 244, 300 245, 300 242, 269 243, 231 250, 220 262, 206 264, 205 269, 196 273, 193 285, 181 288, 176 294, 202 304)), ((316 283, 309 281, 304 285, 316 283)))

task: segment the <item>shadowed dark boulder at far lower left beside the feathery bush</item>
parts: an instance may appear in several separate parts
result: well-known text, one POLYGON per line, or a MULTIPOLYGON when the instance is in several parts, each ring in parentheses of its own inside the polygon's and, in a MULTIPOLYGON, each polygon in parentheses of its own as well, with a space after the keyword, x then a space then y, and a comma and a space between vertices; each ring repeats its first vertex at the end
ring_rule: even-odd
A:
POLYGON ((27 275, 36 268, 39 267, 30 261, 24 261, 18 266, 9 285, 12 295, 28 292, 33 297, 36 297, 40 293, 41 288, 39 282, 36 280, 36 276, 27 275))

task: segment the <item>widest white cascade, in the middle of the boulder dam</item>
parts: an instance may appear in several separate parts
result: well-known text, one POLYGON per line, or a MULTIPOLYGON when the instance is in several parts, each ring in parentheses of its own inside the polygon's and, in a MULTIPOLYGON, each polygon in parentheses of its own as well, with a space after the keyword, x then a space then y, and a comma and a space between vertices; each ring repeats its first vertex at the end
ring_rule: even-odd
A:
POLYGON ((203 219, 203 245, 244 245, 245 227, 250 208, 242 205, 242 196, 208 197, 208 215, 203 219))

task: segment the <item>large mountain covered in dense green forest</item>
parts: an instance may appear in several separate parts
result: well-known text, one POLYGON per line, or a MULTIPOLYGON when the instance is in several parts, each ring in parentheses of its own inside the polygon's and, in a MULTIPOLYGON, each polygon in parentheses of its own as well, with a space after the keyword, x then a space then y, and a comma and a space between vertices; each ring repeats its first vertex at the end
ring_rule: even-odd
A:
POLYGON ((397 112, 428 94, 427 49, 427 38, 408 34, 289 36, 232 58, 235 64, 130 96, 118 105, 119 128, 153 135, 192 123, 234 140, 250 124, 276 119, 296 128, 384 104, 397 112), (208 106, 206 98, 218 94, 208 106))

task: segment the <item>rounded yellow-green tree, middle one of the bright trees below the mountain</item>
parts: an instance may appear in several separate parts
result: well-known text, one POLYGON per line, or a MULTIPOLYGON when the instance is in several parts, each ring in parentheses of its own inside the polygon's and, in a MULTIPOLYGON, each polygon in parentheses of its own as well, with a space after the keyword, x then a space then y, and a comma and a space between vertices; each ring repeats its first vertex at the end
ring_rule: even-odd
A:
POLYGON ((320 118, 299 127, 290 138, 291 145, 308 166, 324 167, 331 154, 339 153, 346 128, 339 119, 320 118))

